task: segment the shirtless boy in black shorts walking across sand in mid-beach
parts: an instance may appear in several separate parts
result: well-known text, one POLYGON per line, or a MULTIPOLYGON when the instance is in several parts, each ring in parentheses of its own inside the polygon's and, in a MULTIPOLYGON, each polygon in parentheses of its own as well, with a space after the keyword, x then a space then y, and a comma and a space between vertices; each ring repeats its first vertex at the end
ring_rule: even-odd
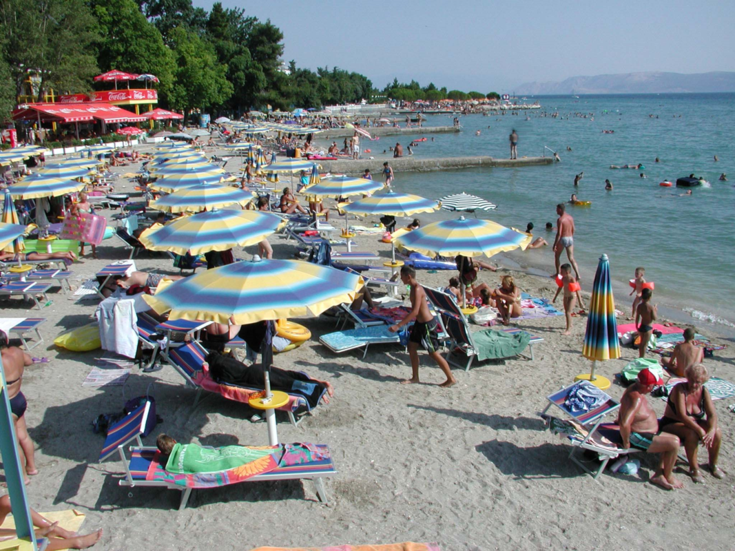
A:
POLYGON ((395 333, 401 330, 401 327, 408 325, 416 320, 411 328, 409 335, 409 356, 411 356, 412 377, 402 384, 418 383, 418 347, 423 346, 424 350, 429 353, 431 359, 437 362, 437 365, 446 375, 447 380, 439 386, 449 387, 457 381, 449 369, 449 364, 439 353, 439 342, 437 339, 437 322, 429 311, 429 304, 426 302, 426 292, 416 281, 416 270, 410 266, 401 267, 401 281, 405 285, 411 286, 411 312, 401 320, 400 323, 391 325, 389 331, 395 333))

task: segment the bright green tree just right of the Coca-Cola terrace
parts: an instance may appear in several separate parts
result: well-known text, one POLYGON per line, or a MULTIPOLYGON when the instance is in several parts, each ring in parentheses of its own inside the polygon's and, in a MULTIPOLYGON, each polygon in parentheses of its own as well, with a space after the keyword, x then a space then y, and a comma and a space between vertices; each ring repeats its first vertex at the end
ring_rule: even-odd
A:
POLYGON ((176 73, 169 104, 183 109, 184 117, 192 109, 210 109, 224 104, 232 96, 227 80, 227 65, 218 62, 215 48, 196 32, 183 26, 169 33, 176 73))

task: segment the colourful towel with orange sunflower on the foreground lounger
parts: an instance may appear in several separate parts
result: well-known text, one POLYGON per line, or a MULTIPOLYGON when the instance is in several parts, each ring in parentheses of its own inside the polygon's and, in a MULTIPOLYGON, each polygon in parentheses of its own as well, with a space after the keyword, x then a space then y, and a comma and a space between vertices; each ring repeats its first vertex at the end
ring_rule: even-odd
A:
MULTIPOLYGON (((188 444, 191 445, 191 444, 188 444)), ((229 447, 229 446, 228 446, 229 447)), ((241 467, 226 469, 218 472, 168 472, 161 464, 161 454, 156 453, 146 472, 146 480, 167 482, 187 488, 216 488, 247 480, 255 475, 270 472, 277 467, 293 467, 315 461, 329 459, 329 449, 315 444, 279 444, 277 446, 263 446, 250 448, 263 450, 268 455, 260 458, 257 463, 243 464, 241 467)), ((174 447, 176 451, 176 447, 174 447)), ((174 454, 171 454, 173 457, 174 454)), ((171 460, 169 458, 169 461, 171 460)), ((168 464, 166 465, 168 468, 168 464)))

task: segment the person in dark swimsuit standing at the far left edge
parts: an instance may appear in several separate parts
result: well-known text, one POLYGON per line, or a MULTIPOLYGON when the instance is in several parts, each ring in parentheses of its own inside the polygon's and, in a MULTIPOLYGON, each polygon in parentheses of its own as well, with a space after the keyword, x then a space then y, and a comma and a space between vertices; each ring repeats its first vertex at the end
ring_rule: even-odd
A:
POLYGON ((18 455, 21 459, 21 467, 27 484, 29 483, 27 475, 37 475, 38 469, 36 469, 34 455, 35 447, 26 428, 24 414, 28 403, 23 392, 21 392, 21 383, 23 382, 24 370, 33 364, 33 360, 31 356, 17 346, 9 346, 4 331, 0 331, 0 353, 5 371, 5 384, 7 386, 7 397, 10 400, 12 421, 15 424, 15 433, 18 436, 18 446, 20 447, 18 455))

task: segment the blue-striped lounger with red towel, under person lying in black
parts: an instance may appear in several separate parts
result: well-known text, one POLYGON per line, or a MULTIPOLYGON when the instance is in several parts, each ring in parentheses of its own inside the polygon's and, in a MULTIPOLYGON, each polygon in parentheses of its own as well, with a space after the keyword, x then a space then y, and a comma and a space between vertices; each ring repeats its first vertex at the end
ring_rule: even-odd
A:
MULTIPOLYGON (((195 406, 203 390, 240 403, 248 403, 252 395, 256 392, 262 392, 262 388, 234 386, 215 381, 212 375, 209 374, 209 366, 207 365, 207 361, 205 361, 208 353, 196 341, 187 342, 185 345, 170 347, 168 350, 162 351, 162 356, 167 363, 184 378, 188 386, 196 389, 196 396, 194 397, 195 406)), ((311 407, 306 401, 306 398, 301 395, 289 394, 288 397, 288 403, 277 409, 285 411, 288 414, 291 424, 297 426, 298 422, 294 415, 295 412, 299 410, 308 412, 311 410, 311 407)))

